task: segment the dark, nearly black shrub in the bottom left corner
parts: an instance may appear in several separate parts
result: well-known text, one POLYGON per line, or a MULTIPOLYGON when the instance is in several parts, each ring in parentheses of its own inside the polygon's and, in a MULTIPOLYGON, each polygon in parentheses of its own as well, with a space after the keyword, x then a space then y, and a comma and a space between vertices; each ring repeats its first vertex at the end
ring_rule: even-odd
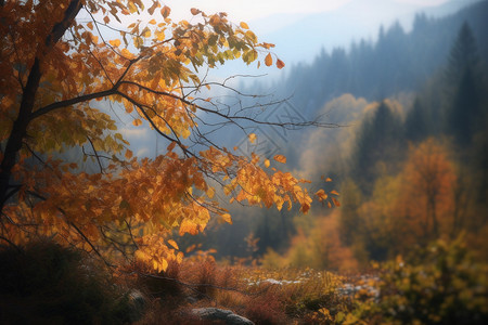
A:
POLYGON ((130 297, 101 265, 50 240, 0 248, 1 324, 124 324, 130 297))

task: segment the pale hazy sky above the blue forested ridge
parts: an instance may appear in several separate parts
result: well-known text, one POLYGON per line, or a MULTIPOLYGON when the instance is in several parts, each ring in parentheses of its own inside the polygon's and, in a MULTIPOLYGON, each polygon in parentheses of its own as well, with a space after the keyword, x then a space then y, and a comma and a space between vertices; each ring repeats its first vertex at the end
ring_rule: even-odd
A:
MULTIPOLYGON (((151 2, 151 0, 144 0, 151 2)), ((352 39, 372 39, 380 24, 388 26, 391 20, 404 23, 413 14, 446 2, 466 0, 163 0, 171 9, 172 21, 192 21, 190 9, 197 8, 207 14, 227 12, 231 22, 248 23, 259 40, 277 44, 273 49, 286 63, 282 70, 255 64, 246 66, 242 61, 227 62, 210 73, 210 79, 220 81, 233 75, 267 75, 262 82, 284 78, 290 67, 298 62, 310 62, 321 48, 347 47, 352 39)), ((236 87, 243 79, 233 79, 236 87)), ((251 78, 249 82, 255 79, 251 78)), ((213 89, 218 95, 218 89, 213 89)), ((134 145, 139 156, 155 154, 165 145, 155 143, 146 129, 134 129, 130 122, 121 132, 134 145), (143 144, 143 145, 141 145, 143 144)))

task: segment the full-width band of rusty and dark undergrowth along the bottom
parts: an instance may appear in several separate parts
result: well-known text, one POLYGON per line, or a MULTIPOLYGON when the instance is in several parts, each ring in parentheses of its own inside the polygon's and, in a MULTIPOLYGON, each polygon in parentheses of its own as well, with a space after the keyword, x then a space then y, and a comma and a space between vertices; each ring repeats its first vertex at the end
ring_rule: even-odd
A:
POLYGON ((213 324, 191 310, 215 307, 255 324, 488 324, 487 274, 462 240, 357 276, 223 266, 209 257, 158 273, 140 262, 110 273, 41 240, 0 250, 0 323, 213 324))

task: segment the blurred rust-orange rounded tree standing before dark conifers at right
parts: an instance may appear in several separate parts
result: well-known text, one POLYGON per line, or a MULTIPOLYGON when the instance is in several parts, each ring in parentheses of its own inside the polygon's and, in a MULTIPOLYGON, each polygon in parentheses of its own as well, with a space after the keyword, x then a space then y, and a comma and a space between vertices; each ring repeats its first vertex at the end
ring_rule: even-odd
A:
MULTIPOLYGON (((408 224, 406 234, 415 242, 427 243, 459 231, 462 222, 454 204, 464 203, 457 193, 457 176, 447 148, 429 138, 411 147, 402 172, 401 197, 396 214, 408 224)), ((460 193, 458 193, 460 195, 460 193)))

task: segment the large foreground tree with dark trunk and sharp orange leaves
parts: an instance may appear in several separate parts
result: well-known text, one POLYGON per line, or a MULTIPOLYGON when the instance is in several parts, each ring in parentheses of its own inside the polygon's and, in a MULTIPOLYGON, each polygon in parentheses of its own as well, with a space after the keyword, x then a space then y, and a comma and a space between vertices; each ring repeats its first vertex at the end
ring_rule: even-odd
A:
POLYGON ((3 242, 49 235, 101 257, 136 252, 162 270, 182 257, 171 231, 195 234, 211 214, 231 222, 215 184, 231 200, 309 209, 303 181, 271 169, 271 157, 239 156, 205 136, 230 123, 266 123, 207 98, 204 90, 218 86, 209 69, 234 58, 259 65, 259 55, 266 66, 283 62, 247 24, 191 14, 191 23, 174 22, 157 0, 0 1, 3 242), (117 115, 151 128, 166 152, 133 157, 117 115), (98 172, 60 159, 66 151, 81 152, 98 172))

